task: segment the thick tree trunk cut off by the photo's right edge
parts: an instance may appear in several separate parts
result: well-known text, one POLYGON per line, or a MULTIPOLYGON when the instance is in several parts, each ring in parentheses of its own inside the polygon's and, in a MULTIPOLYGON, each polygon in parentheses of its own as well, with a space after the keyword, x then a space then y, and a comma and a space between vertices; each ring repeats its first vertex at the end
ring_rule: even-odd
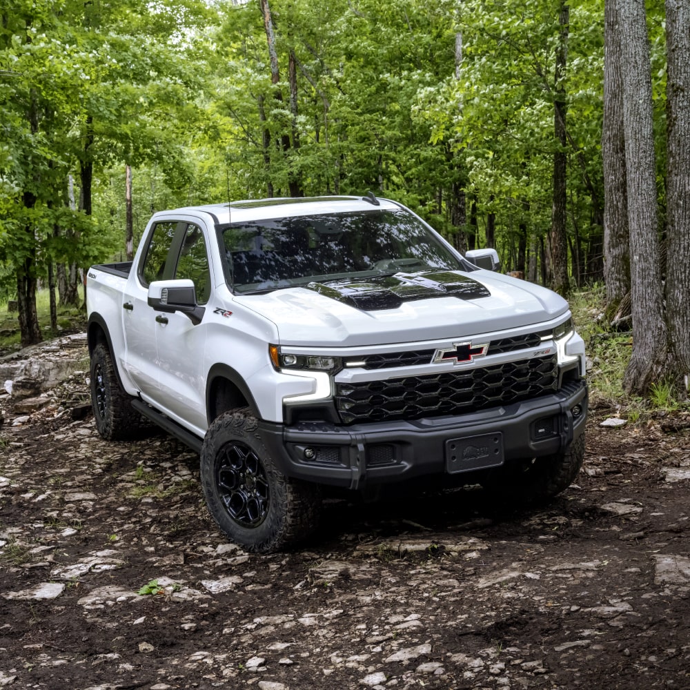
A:
POLYGON ((676 377, 690 373, 690 8, 666 1, 668 77, 666 309, 676 377))

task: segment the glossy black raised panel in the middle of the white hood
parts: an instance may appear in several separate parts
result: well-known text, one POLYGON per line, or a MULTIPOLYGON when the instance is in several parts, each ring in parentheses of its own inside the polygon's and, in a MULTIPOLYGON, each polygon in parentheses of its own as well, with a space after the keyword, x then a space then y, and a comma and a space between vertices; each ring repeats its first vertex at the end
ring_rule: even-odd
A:
POLYGON ((305 286, 319 295, 363 311, 396 309, 403 302, 434 297, 477 299, 491 293, 480 282, 450 270, 396 273, 366 280, 342 278, 305 286))

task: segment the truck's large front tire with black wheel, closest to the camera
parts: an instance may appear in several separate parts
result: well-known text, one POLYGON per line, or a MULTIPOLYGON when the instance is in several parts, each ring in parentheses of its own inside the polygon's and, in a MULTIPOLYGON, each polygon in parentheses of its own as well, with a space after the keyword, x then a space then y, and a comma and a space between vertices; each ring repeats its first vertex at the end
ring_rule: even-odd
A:
POLYGON ((248 408, 226 412, 201 446, 201 487, 221 531, 254 553, 273 553, 318 526, 321 491, 285 477, 275 466, 248 408))

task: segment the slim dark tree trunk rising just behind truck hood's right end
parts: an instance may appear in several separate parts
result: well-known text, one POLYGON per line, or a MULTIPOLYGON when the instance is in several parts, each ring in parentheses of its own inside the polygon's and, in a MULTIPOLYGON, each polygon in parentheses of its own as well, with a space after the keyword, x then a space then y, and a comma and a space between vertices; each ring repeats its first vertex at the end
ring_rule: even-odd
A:
POLYGON ((568 25, 570 10, 564 0, 560 0, 558 23, 560 35, 556 49, 555 63, 555 99, 553 103, 553 133, 556 150, 553 154, 553 210, 551 213, 551 250, 552 288, 560 295, 566 295, 568 284, 568 243, 566 239, 566 175, 568 157, 566 146, 566 99, 565 68, 568 56, 568 25))

